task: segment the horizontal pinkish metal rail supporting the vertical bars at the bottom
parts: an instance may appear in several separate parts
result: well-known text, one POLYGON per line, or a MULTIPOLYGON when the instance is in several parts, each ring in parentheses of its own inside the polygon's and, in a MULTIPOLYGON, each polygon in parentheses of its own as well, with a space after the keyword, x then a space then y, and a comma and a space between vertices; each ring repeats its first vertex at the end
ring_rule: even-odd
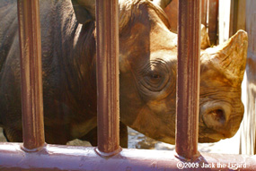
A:
POLYGON ((256 156, 202 153, 195 163, 183 163, 167 150, 123 149, 111 158, 102 158, 92 147, 47 145, 27 153, 21 146, 0 143, 0 170, 171 171, 179 167, 207 170, 207 166, 213 167, 211 170, 256 170, 256 156))

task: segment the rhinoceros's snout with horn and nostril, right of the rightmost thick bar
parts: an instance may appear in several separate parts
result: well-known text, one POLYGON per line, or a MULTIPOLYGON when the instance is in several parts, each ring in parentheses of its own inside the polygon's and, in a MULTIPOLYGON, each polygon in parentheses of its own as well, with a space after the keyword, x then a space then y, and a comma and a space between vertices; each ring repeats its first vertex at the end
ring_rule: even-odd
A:
POLYGON ((247 33, 201 52, 199 140, 218 141, 236 133, 243 118, 241 83, 247 33))

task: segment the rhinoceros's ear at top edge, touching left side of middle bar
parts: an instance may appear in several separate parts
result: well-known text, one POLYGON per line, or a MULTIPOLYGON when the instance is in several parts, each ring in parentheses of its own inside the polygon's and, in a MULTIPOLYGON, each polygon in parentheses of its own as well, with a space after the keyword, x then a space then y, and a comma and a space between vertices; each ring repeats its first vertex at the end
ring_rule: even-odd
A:
POLYGON ((79 23, 95 20, 95 0, 72 0, 72 4, 79 23))

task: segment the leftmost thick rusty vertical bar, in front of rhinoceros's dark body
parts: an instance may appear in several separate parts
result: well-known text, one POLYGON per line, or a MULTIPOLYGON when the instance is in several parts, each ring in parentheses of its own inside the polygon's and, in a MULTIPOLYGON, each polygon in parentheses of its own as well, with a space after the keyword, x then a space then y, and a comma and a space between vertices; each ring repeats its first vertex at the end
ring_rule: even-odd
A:
POLYGON ((44 146, 39 1, 18 0, 25 150, 44 146))

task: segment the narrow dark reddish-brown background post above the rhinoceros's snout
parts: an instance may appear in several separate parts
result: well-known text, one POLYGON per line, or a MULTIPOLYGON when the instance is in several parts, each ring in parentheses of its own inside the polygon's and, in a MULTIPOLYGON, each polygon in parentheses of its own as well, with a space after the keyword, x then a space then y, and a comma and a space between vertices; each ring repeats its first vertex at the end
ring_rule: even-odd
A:
POLYGON ((216 45, 217 39, 217 26, 218 26, 218 0, 209 0, 209 14, 208 14, 208 35, 210 42, 216 45))

